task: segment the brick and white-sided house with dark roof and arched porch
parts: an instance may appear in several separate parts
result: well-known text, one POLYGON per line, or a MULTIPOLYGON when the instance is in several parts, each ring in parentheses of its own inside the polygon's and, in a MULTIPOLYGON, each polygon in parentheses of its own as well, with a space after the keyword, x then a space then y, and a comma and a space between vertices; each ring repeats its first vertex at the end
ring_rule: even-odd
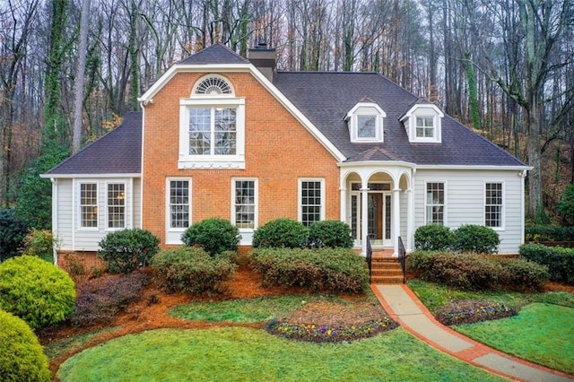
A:
POLYGON ((341 220, 396 254, 427 223, 492 227, 500 253, 524 241, 528 167, 426 100, 374 73, 275 72, 222 45, 145 91, 142 111, 44 175, 60 253, 91 252, 141 227, 162 246, 222 217, 249 246, 280 217, 341 220))

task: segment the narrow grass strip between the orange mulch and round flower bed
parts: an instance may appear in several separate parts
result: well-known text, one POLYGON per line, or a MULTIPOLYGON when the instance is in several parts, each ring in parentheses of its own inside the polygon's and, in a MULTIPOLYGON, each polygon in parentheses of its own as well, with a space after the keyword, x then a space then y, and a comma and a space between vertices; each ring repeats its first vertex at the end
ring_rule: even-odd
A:
POLYGON ((298 308, 317 300, 344 301, 336 296, 289 295, 255 299, 192 302, 171 308, 168 314, 172 317, 187 320, 255 323, 289 316, 298 308))

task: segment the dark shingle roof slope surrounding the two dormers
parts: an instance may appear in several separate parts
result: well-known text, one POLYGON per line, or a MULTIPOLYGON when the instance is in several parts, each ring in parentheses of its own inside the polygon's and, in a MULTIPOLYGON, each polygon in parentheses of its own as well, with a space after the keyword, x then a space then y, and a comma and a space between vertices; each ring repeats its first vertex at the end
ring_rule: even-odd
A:
POLYGON ((525 166, 455 119, 442 119, 442 143, 409 143, 400 118, 420 100, 374 73, 279 72, 274 85, 344 153, 347 161, 408 161, 418 165, 525 166), (351 143, 344 121, 358 100, 385 110, 384 143, 351 143), (377 150, 373 150, 376 148, 377 150))

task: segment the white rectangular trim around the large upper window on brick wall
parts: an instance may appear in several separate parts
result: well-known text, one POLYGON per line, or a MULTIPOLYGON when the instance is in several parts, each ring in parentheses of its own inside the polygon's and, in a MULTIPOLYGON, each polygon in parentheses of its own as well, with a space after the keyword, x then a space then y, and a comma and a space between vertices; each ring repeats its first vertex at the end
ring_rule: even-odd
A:
POLYGON ((198 98, 179 100, 178 169, 245 169, 244 98, 234 98, 225 94, 225 97, 201 95, 198 98), (195 107, 237 109, 235 155, 189 155, 189 109, 195 107))

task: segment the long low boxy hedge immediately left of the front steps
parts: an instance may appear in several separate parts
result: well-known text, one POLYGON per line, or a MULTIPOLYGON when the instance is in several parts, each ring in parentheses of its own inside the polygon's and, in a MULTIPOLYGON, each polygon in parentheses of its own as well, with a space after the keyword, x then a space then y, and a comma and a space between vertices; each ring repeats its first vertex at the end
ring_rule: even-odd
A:
POLYGON ((264 285, 358 293, 369 284, 367 263, 352 249, 256 249, 252 267, 261 273, 264 285))

